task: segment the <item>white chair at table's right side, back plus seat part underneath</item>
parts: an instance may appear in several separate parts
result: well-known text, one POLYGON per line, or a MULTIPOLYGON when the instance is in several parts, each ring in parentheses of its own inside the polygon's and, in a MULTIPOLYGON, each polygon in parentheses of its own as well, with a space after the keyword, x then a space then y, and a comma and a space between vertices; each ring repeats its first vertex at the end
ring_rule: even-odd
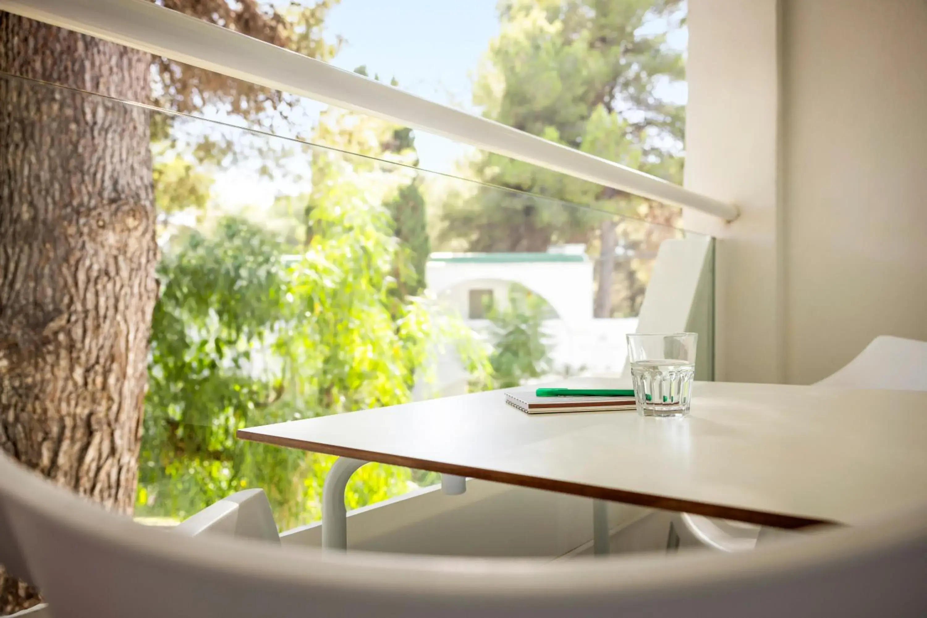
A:
MULTIPOLYGON (((842 369, 815 384, 847 388, 927 391, 927 342, 888 335, 878 336, 842 369)), ((692 513, 679 521, 695 539, 721 551, 749 551, 774 535, 760 526, 729 522, 692 513)))

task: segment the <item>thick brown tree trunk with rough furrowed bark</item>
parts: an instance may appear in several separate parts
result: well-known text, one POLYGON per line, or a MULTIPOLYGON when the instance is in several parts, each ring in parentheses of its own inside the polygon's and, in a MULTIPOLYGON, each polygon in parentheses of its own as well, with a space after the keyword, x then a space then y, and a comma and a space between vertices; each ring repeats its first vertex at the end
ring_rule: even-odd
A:
MULTIPOLYGON (((0 12, 0 71, 130 101, 147 54, 0 12)), ((133 508, 158 294, 148 114, 0 74, 0 448, 133 508)), ((0 569, 0 613, 37 602, 0 569)))

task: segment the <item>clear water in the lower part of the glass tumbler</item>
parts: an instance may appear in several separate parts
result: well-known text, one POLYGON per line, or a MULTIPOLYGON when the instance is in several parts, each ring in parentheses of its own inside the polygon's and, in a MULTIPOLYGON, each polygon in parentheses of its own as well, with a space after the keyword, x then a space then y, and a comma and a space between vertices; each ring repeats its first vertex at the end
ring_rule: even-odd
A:
POLYGON ((683 416, 689 412, 695 365, 679 359, 631 362, 638 410, 644 416, 683 416))

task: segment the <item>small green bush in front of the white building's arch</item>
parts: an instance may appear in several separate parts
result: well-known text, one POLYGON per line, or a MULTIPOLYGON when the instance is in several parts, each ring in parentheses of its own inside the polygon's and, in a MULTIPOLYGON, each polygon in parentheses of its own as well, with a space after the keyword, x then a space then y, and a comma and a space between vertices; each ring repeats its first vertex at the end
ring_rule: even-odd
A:
POLYGON ((543 298, 514 285, 507 305, 489 310, 493 347, 489 363, 498 388, 551 372, 551 349, 542 330, 549 311, 543 298))

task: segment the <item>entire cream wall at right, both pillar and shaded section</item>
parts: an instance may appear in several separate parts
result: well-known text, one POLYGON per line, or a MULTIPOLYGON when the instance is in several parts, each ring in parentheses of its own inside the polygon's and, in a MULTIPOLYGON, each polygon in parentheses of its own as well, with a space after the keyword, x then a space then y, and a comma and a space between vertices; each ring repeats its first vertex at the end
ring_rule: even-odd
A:
POLYGON ((717 377, 819 380, 927 339, 927 3, 689 6, 686 185, 715 233, 717 377))

